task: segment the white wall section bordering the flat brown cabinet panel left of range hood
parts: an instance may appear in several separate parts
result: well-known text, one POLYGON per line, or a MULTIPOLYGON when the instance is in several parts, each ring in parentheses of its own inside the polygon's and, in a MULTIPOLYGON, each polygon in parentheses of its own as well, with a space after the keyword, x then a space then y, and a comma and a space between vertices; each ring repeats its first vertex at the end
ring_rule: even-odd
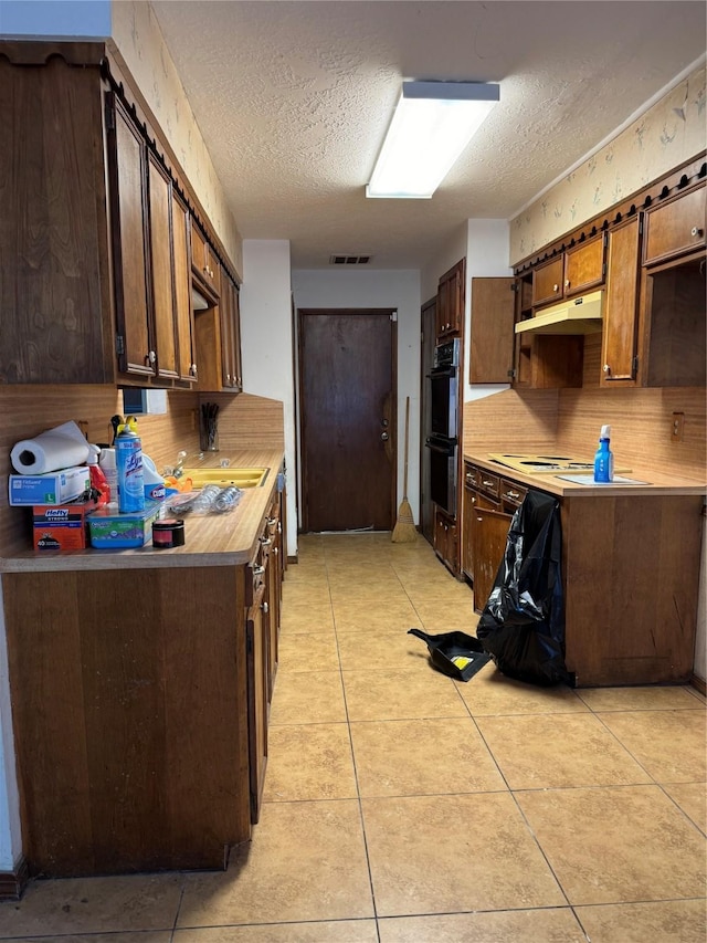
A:
POLYGON ((469 219, 466 237, 464 402, 508 389, 508 384, 472 385, 468 383, 473 329, 472 279, 498 279, 513 275, 513 269, 508 263, 508 222, 505 219, 469 219))

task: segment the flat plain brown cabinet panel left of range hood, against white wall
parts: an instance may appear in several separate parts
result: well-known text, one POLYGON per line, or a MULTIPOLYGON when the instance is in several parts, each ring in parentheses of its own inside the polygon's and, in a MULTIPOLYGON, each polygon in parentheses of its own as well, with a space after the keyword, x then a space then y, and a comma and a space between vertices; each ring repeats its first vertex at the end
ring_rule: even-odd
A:
POLYGON ((469 383, 508 383, 515 302, 514 279, 472 279, 469 383))

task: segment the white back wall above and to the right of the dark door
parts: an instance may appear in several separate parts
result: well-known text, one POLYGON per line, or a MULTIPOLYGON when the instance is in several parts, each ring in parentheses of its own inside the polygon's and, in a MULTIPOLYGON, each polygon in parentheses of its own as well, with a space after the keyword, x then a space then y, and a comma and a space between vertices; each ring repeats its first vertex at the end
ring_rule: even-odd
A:
POLYGON ((295 307, 391 307, 398 311, 398 500, 404 473, 405 397, 410 397, 408 500, 420 511, 420 272, 310 271, 293 273, 295 307))

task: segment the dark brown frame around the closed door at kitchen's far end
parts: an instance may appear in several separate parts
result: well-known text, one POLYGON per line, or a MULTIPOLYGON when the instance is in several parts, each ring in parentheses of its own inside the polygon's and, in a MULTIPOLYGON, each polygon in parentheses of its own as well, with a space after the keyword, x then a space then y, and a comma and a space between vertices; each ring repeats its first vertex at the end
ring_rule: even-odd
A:
MULTIPOLYGON (((297 438, 297 455, 298 455, 298 495, 299 495, 299 514, 298 514, 298 526, 297 533, 309 533, 308 531, 308 512, 307 512, 307 494, 306 494, 306 481, 307 481, 307 460, 306 460, 306 436, 305 436, 305 398, 304 398, 304 383, 303 383, 303 365, 302 365, 302 318, 306 315, 341 315, 341 316, 350 316, 350 315, 379 315, 381 317, 387 316, 391 323, 391 349, 390 349, 390 383, 391 383, 391 394, 390 394, 390 423, 389 423, 389 434, 391 439, 390 448, 391 448, 391 470, 390 470, 390 515, 391 515, 391 531, 395 526, 395 521, 398 518, 398 504, 399 504, 399 494, 398 494, 398 468, 399 468, 399 437, 398 437, 398 308, 392 306, 386 307, 352 307, 348 305, 347 307, 297 307, 295 311, 295 336, 296 336, 296 357, 295 357, 295 366, 296 366, 296 438, 297 438)), ((341 533, 347 533, 342 531, 341 533)), ((382 532, 378 532, 382 533, 382 532)))

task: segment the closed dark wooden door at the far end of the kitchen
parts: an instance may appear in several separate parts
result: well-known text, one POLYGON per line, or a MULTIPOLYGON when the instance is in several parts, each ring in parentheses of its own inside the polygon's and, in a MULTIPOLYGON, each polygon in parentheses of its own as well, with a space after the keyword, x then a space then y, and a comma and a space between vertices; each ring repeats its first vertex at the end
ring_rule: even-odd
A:
POLYGON ((299 311, 298 332, 303 528, 392 530, 393 312, 299 311))

